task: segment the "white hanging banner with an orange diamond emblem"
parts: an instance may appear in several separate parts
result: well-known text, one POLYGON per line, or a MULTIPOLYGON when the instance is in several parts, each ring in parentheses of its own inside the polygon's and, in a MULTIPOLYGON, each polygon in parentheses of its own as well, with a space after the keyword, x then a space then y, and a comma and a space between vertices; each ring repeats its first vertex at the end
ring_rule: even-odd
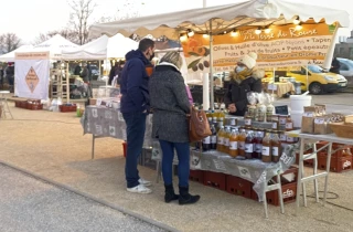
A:
POLYGON ((17 53, 14 94, 19 97, 47 99, 50 80, 49 53, 17 53))

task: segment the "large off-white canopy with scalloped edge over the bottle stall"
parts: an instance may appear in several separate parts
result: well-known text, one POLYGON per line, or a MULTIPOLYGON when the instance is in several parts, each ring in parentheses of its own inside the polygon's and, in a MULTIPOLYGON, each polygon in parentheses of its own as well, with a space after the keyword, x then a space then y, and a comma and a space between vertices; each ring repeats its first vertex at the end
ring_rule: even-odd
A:
POLYGON ((287 24, 297 17, 301 21, 312 18, 318 22, 324 18, 327 23, 340 22, 342 27, 350 24, 349 13, 343 10, 282 0, 248 0, 234 4, 94 24, 89 28, 89 33, 90 36, 114 35, 116 33, 128 36, 137 33, 141 36, 152 34, 154 38, 165 35, 170 39, 178 39, 178 32, 184 32, 188 29, 207 33, 210 19, 213 19, 212 31, 216 34, 244 25, 287 24))

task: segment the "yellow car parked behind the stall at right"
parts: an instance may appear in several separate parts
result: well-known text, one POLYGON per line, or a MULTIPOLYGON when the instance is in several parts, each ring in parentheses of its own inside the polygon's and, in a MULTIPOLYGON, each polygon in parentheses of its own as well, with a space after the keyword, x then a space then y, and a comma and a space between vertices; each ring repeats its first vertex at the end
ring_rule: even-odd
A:
MULTIPOLYGON (((272 72, 266 72, 267 77, 272 77, 272 72)), ((288 67, 285 76, 296 77, 297 82, 301 82, 301 91, 309 91, 311 94, 332 93, 347 86, 344 76, 327 72, 318 65, 308 65, 308 70, 307 66, 288 67)))

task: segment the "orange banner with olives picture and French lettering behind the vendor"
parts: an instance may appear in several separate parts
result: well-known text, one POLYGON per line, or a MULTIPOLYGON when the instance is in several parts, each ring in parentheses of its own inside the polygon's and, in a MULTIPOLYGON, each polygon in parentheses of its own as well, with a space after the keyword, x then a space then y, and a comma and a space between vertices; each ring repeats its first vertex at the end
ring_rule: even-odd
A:
MULTIPOLYGON (((335 25, 311 23, 271 25, 268 33, 256 28, 213 36, 214 72, 231 71, 236 61, 249 53, 258 55, 257 66, 282 67, 323 64, 333 40, 335 25)), ((195 34, 181 40, 189 73, 210 72, 210 38, 195 34)))

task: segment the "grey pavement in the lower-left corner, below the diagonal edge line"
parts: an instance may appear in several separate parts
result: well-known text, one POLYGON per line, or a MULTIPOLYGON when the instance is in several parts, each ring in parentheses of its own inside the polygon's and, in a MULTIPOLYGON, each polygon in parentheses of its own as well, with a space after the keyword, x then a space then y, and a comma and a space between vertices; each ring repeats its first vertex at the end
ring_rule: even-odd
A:
POLYGON ((153 231, 137 220, 0 165, 0 231, 153 231))

